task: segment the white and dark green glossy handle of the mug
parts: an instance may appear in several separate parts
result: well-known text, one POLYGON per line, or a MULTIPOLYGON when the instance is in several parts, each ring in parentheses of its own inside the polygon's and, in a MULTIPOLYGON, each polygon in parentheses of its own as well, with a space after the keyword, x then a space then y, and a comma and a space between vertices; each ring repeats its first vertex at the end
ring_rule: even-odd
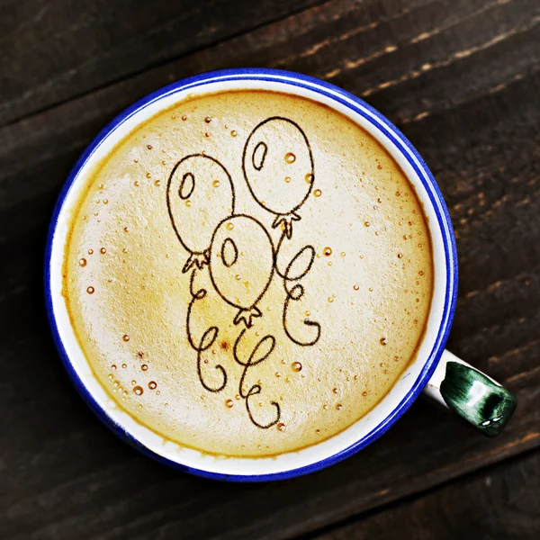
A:
POLYGON ((479 428, 500 434, 516 410, 516 398, 491 377, 445 351, 424 392, 479 428))

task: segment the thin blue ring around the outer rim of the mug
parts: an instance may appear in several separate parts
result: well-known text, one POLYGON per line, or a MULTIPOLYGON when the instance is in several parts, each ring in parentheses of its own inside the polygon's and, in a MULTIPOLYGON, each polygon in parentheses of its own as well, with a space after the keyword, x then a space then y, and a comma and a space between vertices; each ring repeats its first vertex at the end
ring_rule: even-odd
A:
POLYGON ((350 94, 345 90, 342 90, 336 85, 331 85, 327 82, 321 81, 315 77, 304 76, 291 71, 284 71, 281 69, 268 69, 268 68, 238 68, 238 69, 221 69, 219 71, 211 71, 203 73, 197 76, 191 76, 184 78, 180 81, 176 81, 171 85, 166 85, 163 88, 158 89, 152 94, 148 94, 146 97, 140 99, 137 103, 132 104, 125 111, 121 112, 114 120, 106 125, 103 130, 95 137, 90 145, 85 148, 85 151, 76 161, 76 165, 73 167, 67 181, 63 185, 60 194, 58 195, 58 201, 53 211, 52 219, 49 226, 49 233, 47 236, 47 244, 45 250, 45 302, 47 314, 49 317, 50 327, 58 353, 62 363, 66 367, 67 374, 69 375, 72 383, 75 385, 77 392, 82 396, 91 410, 94 411, 96 416, 103 421, 103 423, 112 430, 118 437, 121 437, 130 446, 134 446, 144 455, 148 455, 161 464, 172 466, 173 468, 185 473, 192 473, 204 478, 210 478, 213 480, 229 481, 229 482, 267 482, 274 480, 284 480, 293 478, 295 476, 301 476, 303 474, 314 473, 320 469, 326 468, 329 465, 337 464, 338 462, 346 459, 348 456, 356 454, 365 446, 370 445, 375 439, 381 437, 392 425, 401 418, 406 410, 410 408, 410 405, 415 401, 420 392, 422 392, 424 386, 428 383, 431 375, 434 373, 438 361, 443 354, 446 340, 450 332, 452 320, 455 313, 455 302, 457 299, 457 251, 455 247, 455 236, 450 215, 446 208, 446 203, 443 199, 443 195, 437 185, 437 182, 424 160, 419 156, 418 151, 410 144, 410 141, 398 130, 391 121, 385 118, 380 112, 376 111, 373 107, 365 103, 354 94, 350 94), (410 166, 414 169, 419 176, 420 181, 424 185, 430 202, 437 215, 438 226, 442 232, 445 248, 445 264, 446 264, 446 294, 445 303, 443 308, 443 319, 441 327, 438 330, 437 339, 428 356, 426 363, 423 365, 422 370, 415 381, 415 383, 407 392, 406 396, 401 400, 399 405, 392 410, 392 412, 383 419, 376 428, 370 431, 365 437, 356 441, 351 446, 341 450, 338 454, 331 455, 313 464, 304 465, 294 469, 286 470, 280 473, 268 473, 268 474, 224 474, 224 473, 212 473, 203 469, 197 469, 184 464, 179 464, 175 461, 169 460, 163 455, 158 455, 147 446, 144 446, 136 437, 133 437, 126 429, 122 428, 120 424, 114 421, 103 408, 95 401, 94 396, 86 389, 85 384, 80 380, 76 374, 74 366, 71 364, 69 357, 67 356, 66 348, 60 338, 57 321, 54 316, 52 295, 50 289, 50 266, 52 256, 52 241, 57 228, 58 216, 62 210, 64 201, 67 197, 67 193, 71 189, 72 184, 76 181, 76 177, 82 168, 85 166, 88 159, 93 155, 94 150, 100 146, 104 139, 109 137, 114 130, 116 130, 124 121, 127 121, 133 114, 139 112, 141 109, 146 108, 149 104, 155 103, 167 95, 176 94, 178 92, 188 90, 200 85, 206 85, 209 83, 217 83, 224 81, 268 81, 276 83, 284 83, 286 85, 298 86, 305 88, 315 93, 322 94, 329 97, 335 102, 345 105, 347 108, 362 115, 365 120, 370 121, 374 126, 383 131, 383 133, 392 140, 393 144, 399 148, 403 157, 407 159, 410 166))

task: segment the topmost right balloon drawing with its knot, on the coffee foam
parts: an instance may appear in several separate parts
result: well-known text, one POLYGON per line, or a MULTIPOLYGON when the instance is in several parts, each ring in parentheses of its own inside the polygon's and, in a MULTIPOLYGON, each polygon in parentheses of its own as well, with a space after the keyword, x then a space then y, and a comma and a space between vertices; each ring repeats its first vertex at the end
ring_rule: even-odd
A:
POLYGON ((294 121, 280 116, 260 122, 246 141, 242 169, 249 191, 267 211, 275 214, 276 228, 284 223, 293 236, 296 212, 308 198, 314 182, 310 141, 294 121))

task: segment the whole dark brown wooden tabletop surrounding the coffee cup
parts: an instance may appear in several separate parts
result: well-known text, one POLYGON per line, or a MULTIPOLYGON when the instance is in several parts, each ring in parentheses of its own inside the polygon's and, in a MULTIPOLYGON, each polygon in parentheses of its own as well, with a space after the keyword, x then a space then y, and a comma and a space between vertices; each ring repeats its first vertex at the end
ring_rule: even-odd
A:
POLYGON ((0 2, 0 538, 540 538, 538 0, 0 2), (418 401, 287 482, 205 481, 112 436, 69 383, 42 293, 70 167, 127 105, 220 67, 363 97, 437 177, 460 293, 448 347, 519 406, 496 439, 418 401))

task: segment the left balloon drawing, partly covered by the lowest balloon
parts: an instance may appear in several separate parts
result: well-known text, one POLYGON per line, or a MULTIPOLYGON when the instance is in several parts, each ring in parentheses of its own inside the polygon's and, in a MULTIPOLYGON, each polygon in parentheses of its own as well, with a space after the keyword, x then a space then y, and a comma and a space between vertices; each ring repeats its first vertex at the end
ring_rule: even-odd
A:
POLYGON ((227 169, 204 154, 181 159, 166 191, 169 216, 176 236, 190 256, 183 272, 209 263, 211 236, 221 220, 234 213, 234 186, 227 169))

